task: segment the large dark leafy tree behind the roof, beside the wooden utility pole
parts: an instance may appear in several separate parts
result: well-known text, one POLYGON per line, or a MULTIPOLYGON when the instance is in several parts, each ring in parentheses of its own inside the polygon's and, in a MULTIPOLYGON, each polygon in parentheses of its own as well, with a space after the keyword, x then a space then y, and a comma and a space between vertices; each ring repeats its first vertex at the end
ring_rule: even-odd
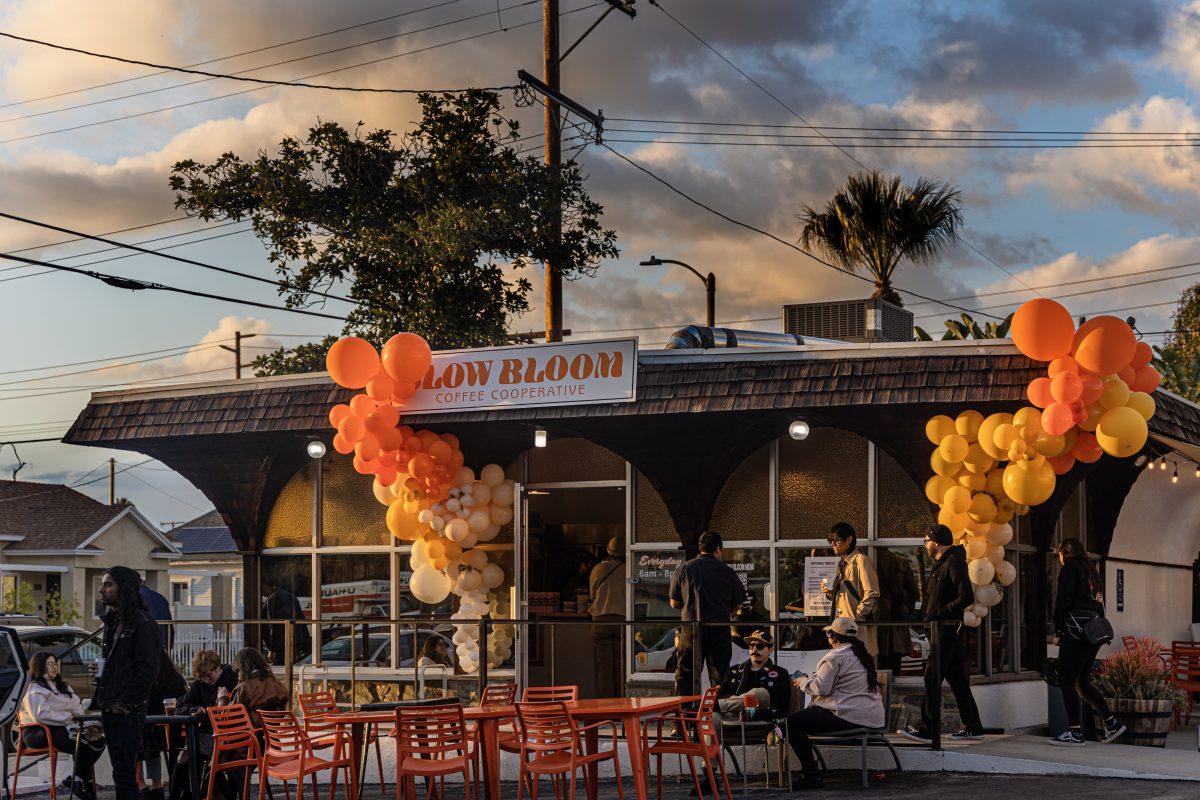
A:
MULTIPOLYGON (((510 145, 515 121, 494 92, 419 95, 409 133, 318 124, 275 155, 176 163, 175 205, 202 219, 251 221, 289 307, 344 290, 343 329, 380 344, 397 331, 433 348, 502 344, 529 308, 523 267, 552 260, 566 278, 617 255, 616 233, 575 162, 551 168, 510 145), (562 236, 552 213, 562 204, 562 236)), ((331 309, 341 306, 331 306, 331 309)), ((259 373, 311 367, 313 345, 256 361, 259 373)))

